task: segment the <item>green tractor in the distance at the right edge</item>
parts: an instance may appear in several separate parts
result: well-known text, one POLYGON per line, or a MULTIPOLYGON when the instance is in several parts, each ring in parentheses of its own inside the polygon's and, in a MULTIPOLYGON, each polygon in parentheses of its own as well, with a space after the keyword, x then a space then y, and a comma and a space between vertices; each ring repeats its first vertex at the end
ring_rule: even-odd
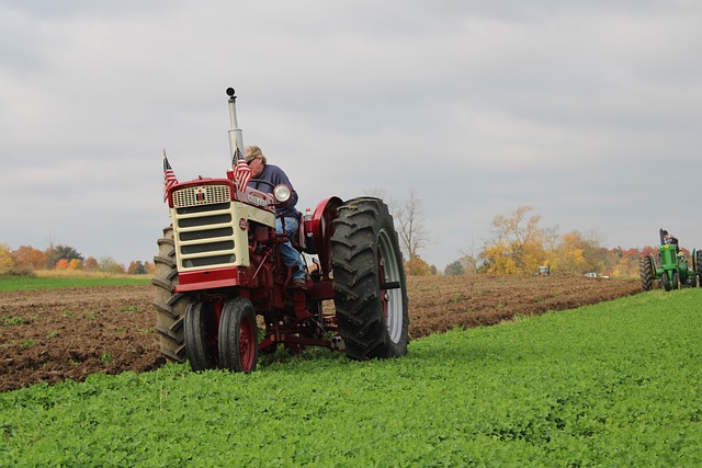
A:
MULTIPOLYGON (((680 289, 683 286, 697 287, 698 276, 702 275, 702 254, 697 249, 692 251, 692 267, 688 263, 687 255, 678 246, 678 239, 660 229, 660 266, 656 265, 653 254, 642 256, 638 260, 641 284, 644 290, 654 288, 655 282, 660 282, 664 289, 680 289)), ((702 279, 700 282, 702 285, 702 279)))

